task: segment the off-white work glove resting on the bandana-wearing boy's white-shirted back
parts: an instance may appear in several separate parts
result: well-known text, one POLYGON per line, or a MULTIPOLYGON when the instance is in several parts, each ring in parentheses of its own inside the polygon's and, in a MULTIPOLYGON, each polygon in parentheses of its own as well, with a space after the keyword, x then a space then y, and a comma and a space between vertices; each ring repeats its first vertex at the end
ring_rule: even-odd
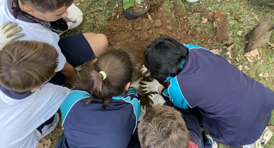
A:
POLYGON ((0 50, 2 50, 2 48, 8 43, 11 43, 25 35, 24 33, 16 34, 22 30, 22 28, 17 25, 17 23, 8 21, 0 27, 0 50))

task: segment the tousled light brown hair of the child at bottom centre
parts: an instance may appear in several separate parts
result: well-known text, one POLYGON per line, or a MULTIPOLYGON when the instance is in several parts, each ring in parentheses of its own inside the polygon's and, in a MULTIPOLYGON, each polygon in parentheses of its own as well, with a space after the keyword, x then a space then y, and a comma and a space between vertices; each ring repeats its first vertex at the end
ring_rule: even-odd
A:
POLYGON ((181 113, 176 109, 157 105, 149 108, 138 124, 142 148, 188 148, 190 132, 181 113))

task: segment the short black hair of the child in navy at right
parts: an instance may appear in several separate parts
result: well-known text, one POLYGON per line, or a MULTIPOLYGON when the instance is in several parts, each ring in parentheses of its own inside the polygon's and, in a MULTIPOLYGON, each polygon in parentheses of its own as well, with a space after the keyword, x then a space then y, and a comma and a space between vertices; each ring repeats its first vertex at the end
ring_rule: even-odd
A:
POLYGON ((175 77, 180 72, 180 65, 188 53, 188 49, 180 42, 161 36, 151 42, 145 50, 144 65, 153 78, 175 77))

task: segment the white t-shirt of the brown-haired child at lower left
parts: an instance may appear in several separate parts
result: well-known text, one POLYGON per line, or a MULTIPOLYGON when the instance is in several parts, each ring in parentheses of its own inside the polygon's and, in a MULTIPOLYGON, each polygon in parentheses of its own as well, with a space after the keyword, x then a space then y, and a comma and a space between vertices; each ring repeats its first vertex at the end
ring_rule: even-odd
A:
MULTIPOLYGON (((47 83, 25 98, 0 90, 0 147, 35 148, 35 129, 59 109, 70 89, 47 83), (5 94, 5 93, 6 94, 5 94), (9 95, 10 96, 10 95, 9 95)), ((7 90, 7 89, 4 89, 7 90)), ((31 92, 30 92, 31 93, 31 92)))

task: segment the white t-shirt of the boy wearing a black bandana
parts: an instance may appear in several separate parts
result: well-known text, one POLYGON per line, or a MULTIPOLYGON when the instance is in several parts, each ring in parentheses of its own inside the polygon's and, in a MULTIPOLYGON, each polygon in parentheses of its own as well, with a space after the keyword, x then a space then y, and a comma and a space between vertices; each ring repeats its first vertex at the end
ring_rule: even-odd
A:
POLYGON ((8 21, 18 23, 18 26, 22 27, 22 31, 19 33, 25 33, 23 37, 20 37, 17 40, 36 40, 40 42, 46 42, 54 46, 59 53, 59 64, 56 71, 60 71, 64 68, 66 59, 65 56, 61 53, 60 47, 58 46, 60 39, 58 34, 52 32, 50 29, 44 27, 41 24, 24 22, 19 19, 15 19, 8 10, 7 0, 0 0, 0 26, 8 21))

